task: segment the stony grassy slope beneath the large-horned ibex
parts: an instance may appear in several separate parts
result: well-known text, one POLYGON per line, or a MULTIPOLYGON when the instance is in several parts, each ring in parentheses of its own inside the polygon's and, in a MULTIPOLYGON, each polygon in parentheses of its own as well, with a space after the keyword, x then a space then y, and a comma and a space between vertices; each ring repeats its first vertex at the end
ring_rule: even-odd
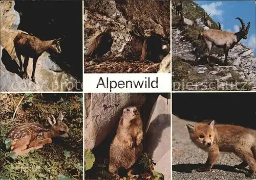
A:
MULTIPOLYGON (((190 5, 190 11, 191 8, 196 8, 196 5, 193 6, 195 7, 191 7, 190 5)), ((173 18, 177 20, 177 17, 174 16, 173 18)), ((193 18, 192 20, 196 20, 197 22, 196 26, 201 27, 202 31, 208 29, 200 18, 193 18)), ((196 28, 190 29, 190 33, 194 33, 197 30, 196 28)), ((197 42, 195 38, 192 40, 187 38, 187 34, 184 35, 184 31, 187 33, 188 28, 173 24, 172 57, 174 90, 256 90, 256 60, 252 48, 238 43, 229 51, 228 66, 223 66, 224 55, 221 53, 221 50, 214 48, 211 53, 211 62, 214 64, 212 67, 208 67, 205 56, 201 57, 198 66, 194 66, 193 64, 196 58, 194 52, 199 41, 197 42), (186 85, 187 83, 189 85, 186 85)))

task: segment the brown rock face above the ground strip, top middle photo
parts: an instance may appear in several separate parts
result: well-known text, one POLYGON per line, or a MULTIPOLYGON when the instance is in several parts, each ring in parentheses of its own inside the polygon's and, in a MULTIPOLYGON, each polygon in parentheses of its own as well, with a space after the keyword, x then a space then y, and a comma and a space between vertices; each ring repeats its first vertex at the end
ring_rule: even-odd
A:
MULTIPOLYGON (((170 39, 169 2, 157 1, 85 1, 84 50, 101 32, 111 29, 114 57, 140 58, 144 30, 152 29, 170 39), (131 35, 131 31, 135 36, 131 35)), ((166 41, 168 50, 169 42, 166 41)), ((111 53, 110 53, 111 54, 111 53)))

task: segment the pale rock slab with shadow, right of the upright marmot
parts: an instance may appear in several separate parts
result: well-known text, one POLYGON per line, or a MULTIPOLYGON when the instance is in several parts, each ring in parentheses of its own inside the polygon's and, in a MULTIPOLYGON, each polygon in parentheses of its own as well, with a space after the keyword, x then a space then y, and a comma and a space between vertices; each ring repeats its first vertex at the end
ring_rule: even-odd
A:
POLYGON ((156 163, 155 170, 170 179, 170 99, 159 95, 145 133, 145 150, 156 163))

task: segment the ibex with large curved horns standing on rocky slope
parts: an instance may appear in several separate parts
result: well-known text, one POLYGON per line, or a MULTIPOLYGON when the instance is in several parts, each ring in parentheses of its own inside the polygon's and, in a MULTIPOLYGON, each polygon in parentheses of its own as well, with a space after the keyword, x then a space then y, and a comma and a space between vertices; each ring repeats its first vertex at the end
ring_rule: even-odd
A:
MULTIPOLYGON (((217 46, 223 48, 225 54, 224 65, 227 65, 227 56, 229 49, 232 49, 241 39, 247 39, 247 34, 250 28, 250 22, 247 23, 245 28, 244 21, 237 17, 236 19, 240 20, 242 28, 237 33, 220 31, 220 30, 206 30, 203 33, 198 35, 198 38, 201 40, 201 49, 199 53, 201 54, 203 50, 207 47, 207 61, 210 65, 209 57, 212 46, 217 46)), ((197 64, 197 59, 199 57, 197 53, 195 64, 197 64)))

